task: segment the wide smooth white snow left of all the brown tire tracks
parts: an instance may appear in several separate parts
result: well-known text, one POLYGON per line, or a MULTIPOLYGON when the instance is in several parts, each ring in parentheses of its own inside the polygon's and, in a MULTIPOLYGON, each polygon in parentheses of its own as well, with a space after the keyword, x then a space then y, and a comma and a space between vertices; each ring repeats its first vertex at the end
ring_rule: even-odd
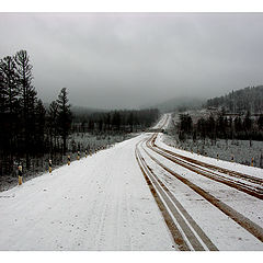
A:
POLYGON ((0 250, 174 250, 126 140, 0 194, 0 250))

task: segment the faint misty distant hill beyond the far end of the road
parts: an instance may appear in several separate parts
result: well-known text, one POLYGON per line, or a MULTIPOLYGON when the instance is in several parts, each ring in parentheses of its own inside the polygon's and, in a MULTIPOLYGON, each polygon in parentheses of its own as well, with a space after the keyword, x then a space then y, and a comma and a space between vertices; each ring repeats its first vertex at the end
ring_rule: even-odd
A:
POLYGON ((194 99, 187 96, 178 96, 164 101, 162 103, 152 105, 151 107, 157 107, 161 112, 174 112, 174 111, 184 111, 184 110, 193 110, 201 107, 205 103, 204 99, 194 99))

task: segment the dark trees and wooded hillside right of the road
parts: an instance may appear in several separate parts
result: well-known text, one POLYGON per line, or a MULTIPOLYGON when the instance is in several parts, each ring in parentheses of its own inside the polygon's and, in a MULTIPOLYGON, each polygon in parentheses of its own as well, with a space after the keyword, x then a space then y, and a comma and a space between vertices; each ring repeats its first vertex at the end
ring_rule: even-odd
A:
POLYGON ((209 116, 193 123, 188 114, 180 114, 179 139, 186 137, 211 140, 263 140, 263 85, 232 91, 207 100, 209 116))

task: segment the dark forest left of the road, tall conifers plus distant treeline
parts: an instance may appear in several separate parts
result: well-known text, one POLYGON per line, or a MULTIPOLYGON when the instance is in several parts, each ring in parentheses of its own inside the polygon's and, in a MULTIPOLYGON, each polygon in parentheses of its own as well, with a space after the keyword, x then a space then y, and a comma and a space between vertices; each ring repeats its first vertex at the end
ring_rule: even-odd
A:
MULTIPOLYGON (((45 170, 48 160, 61 164, 75 133, 122 134, 142 130, 159 117, 158 110, 72 112, 67 88, 44 105, 33 84, 26 50, 0 59, 0 175, 32 167, 45 170)), ((33 169, 34 171, 34 169, 33 169)))

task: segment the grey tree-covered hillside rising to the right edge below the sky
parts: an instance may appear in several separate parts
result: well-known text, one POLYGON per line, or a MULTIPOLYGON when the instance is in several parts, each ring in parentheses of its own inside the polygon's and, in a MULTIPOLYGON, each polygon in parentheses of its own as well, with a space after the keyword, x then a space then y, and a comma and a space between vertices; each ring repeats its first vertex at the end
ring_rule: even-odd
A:
POLYGON ((207 100, 207 107, 225 107, 232 113, 263 113, 263 85, 248 87, 207 100))

